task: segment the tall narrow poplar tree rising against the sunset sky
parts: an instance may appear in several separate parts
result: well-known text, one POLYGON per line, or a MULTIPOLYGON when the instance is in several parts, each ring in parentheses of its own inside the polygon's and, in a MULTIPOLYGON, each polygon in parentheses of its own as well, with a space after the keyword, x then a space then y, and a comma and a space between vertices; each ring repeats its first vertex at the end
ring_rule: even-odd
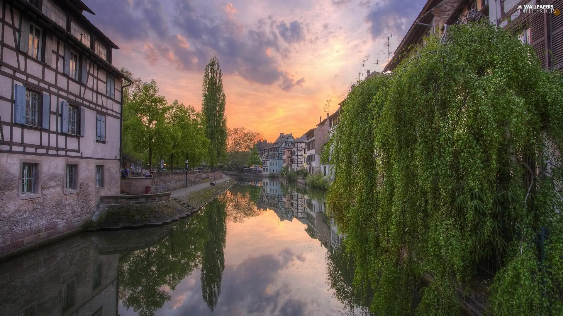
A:
POLYGON ((209 165, 214 168, 217 161, 226 155, 227 141, 223 74, 216 56, 205 66, 202 112, 205 119, 205 136, 211 141, 209 165))

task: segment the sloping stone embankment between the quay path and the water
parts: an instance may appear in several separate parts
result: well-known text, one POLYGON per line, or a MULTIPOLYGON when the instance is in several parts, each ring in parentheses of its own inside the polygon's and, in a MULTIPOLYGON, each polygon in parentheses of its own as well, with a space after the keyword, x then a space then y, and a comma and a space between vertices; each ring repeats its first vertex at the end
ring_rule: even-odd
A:
POLYGON ((88 224, 87 230, 140 228, 163 225, 195 213, 227 191, 236 181, 223 180, 184 195, 170 192, 153 195, 107 197, 88 224))

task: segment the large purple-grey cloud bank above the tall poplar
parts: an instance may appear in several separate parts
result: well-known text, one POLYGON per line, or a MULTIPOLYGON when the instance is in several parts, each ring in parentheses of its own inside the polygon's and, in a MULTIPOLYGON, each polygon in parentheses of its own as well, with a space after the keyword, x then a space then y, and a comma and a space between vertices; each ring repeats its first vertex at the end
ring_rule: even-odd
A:
POLYGON ((96 12, 90 19, 100 29, 120 42, 139 44, 151 65, 162 59, 181 70, 202 71, 217 56, 224 74, 238 74, 248 82, 279 83, 289 91, 305 81, 293 82, 279 62, 289 56, 291 44, 305 40, 297 20, 278 23, 269 16, 250 28, 234 19, 232 3, 212 15, 195 10, 190 0, 90 0, 88 5, 96 12), (173 7, 173 12, 163 7, 173 7))

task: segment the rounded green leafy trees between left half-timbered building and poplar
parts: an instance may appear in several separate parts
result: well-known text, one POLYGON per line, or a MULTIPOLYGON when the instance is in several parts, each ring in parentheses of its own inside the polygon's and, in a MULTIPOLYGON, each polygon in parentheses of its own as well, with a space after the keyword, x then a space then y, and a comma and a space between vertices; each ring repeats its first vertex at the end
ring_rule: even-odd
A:
POLYGON ((123 155, 129 161, 147 161, 149 167, 153 156, 170 157, 169 165, 176 166, 184 166, 186 154, 192 167, 207 160, 209 139, 202 115, 177 100, 168 105, 158 92, 154 80, 142 82, 140 78, 125 88, 123 155))

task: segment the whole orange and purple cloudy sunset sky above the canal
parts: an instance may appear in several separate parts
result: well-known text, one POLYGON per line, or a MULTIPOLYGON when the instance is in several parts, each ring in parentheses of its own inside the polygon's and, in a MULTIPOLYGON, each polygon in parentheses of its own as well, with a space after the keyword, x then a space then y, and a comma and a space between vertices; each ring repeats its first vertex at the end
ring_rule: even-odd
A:
MULTIPOLYGON (((332 113, 365 69, 379 70, 422 0, 83 0, 119 46, 113 64, 155 79, 168 102, 199 110, 205 64, 216 55, 227 127, 274 141, 299 137, 332 113)), ((392 53, 391 53, 392 55, 392 53)))

